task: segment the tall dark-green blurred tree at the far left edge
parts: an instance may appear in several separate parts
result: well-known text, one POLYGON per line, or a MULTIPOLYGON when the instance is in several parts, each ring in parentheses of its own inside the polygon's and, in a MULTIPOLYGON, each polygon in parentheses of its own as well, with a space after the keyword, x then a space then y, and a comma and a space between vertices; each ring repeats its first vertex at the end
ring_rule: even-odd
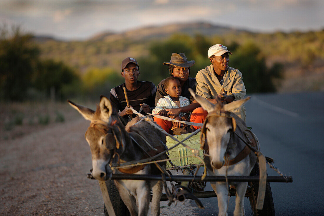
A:
POLYGON ((0 28, 0 98, 19 100, 25 96, 40 53, 32 38, 19 27, 11 32, 6 26, 0 28))

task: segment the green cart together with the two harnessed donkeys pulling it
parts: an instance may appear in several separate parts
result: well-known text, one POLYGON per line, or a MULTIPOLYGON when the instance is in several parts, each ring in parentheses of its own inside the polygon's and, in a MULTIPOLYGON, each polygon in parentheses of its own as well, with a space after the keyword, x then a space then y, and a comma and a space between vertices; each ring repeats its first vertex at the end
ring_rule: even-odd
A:
POLYGON ((235 215, 244 215, 244 197, 249 198, 254 215, 274 215, 269 182, 292 182, 292 177, 279 171, 281 176, 267 176, 266 162, 278 170, 272 165, 273 160, 260 152, 258 139, 245 122, 231 113, 249 98, 223 105, 191 94, 208 115, 203 124, 181 122, 201 129, 179 136, 168 134, 151 117, 135 110, 133 113, 138 116, 122 125, 104 96, 100 97, 96 111, 69 101, 90 121, 85 138, 93 170, 88 177, 98 180, 109 215, 129 215, 127 209, 132 215, 147 215, 151 189, 154 215, 160 213, 161 200, 169 200, 170 206, 172 202, 190 198, 204 208, 199 198, 216 195, 219 215, 227 215, 228 195, 235 195, 235 215), (180 144, 183 147, 179 148, 180 144), (200 167, 204 172, 198 176, 200 167), (172 170, 181 170, 184 175, 173 175, 172 170), (206 182, 210 182, 215 192, 203 191, 206 182), (165 194, 161 196, 163 186, 165 194))

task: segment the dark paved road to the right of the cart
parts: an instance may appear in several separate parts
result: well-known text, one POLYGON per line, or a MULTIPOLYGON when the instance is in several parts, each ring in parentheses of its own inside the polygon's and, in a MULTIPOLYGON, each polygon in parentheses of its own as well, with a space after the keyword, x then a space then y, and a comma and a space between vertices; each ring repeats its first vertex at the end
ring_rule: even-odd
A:
MULTIPOLYGON (((324 215, 324 92, 250 96, 247 125, 253 127, 263 154, 294 180, 271 183, 276 215, 324 215)), ((277 175, 267 169, 269 175, 277 175)), ((217 215, 215 199, 202 199, 206 210, 194 213, 217 215)), ((228 215, 233 215, 234 199, 230 199, 228 215)), ((244 203, 247 215, 252 215, 247 198, 244 203)))

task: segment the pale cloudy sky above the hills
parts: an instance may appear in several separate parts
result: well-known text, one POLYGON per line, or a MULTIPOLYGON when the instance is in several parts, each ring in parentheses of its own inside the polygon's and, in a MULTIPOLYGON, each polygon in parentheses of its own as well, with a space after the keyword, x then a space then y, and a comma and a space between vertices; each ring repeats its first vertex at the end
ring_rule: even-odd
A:
POLYGON ((0 24, 66 40, 193 21, 289 32, 323 29, 323 11, 324 0, 0 0, 0 24))

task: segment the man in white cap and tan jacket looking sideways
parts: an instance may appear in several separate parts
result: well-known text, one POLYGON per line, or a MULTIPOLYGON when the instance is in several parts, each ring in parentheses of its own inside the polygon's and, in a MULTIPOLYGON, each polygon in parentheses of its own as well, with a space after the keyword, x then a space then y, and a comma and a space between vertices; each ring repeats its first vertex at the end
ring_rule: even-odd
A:
MULTIPOLYGON (((243 99, 246 94, 242 73, 228 66, 229 54, 227 47, 215 44, 208 50, 210 66, 198 71, 196 75, 196 93, 212 103, 216 97, 222 103, 230 103, 243 99)), ((241 106, 233 113, 245 121, 245 107, 241 106)))

